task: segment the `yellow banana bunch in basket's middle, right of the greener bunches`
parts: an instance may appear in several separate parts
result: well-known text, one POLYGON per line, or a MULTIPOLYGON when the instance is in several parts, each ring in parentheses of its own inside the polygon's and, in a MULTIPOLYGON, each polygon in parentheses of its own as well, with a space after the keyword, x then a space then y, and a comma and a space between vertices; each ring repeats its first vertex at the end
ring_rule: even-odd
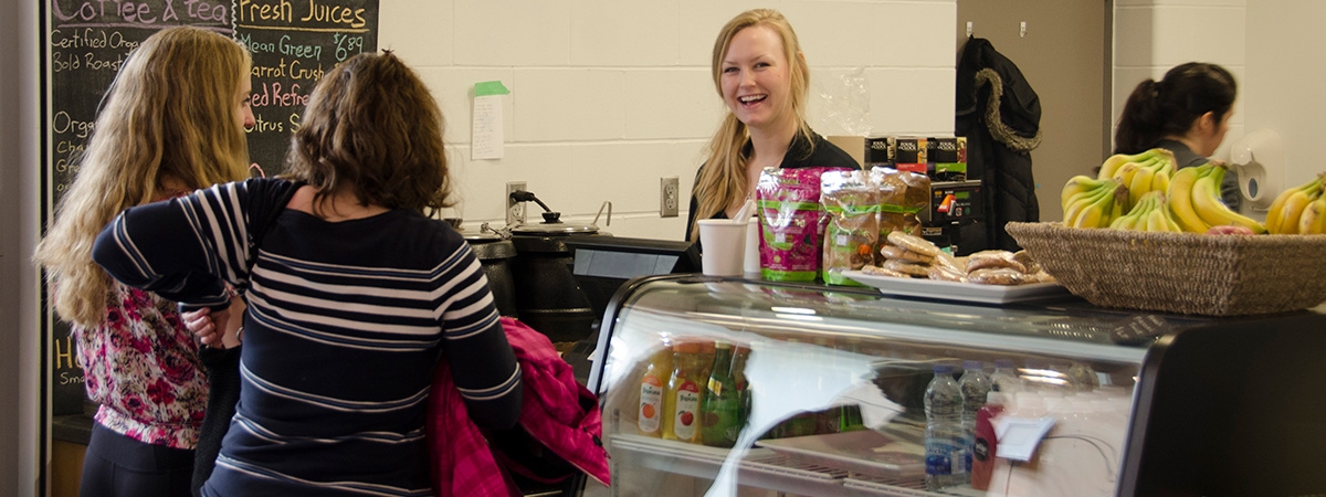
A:
POLYGON ((1208 162, 1175 172, 1166 200, 1171 216, 1189 233, 1205 233, 1211 227, 1225 225, 1265 233, 1265 225, 1231 211, 1220 200, 1220 182, 1225 179, 1225 170, 1224 163, 1208 162))

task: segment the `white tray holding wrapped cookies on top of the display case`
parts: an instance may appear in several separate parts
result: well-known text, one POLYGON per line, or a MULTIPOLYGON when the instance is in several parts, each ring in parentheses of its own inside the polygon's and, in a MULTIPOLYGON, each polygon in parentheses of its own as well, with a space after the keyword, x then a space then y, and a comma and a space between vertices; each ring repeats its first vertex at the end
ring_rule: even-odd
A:
POLYGON ((956 281, 899 278, 892 276, 866 274, 859 270, 845 270, 843 276, 874 286, 879 292, 900 297, 927 297, 945 301, 1010 304, 1061 298, 1070 296, 1059 284, 1028 285, 981 285, 956 281))

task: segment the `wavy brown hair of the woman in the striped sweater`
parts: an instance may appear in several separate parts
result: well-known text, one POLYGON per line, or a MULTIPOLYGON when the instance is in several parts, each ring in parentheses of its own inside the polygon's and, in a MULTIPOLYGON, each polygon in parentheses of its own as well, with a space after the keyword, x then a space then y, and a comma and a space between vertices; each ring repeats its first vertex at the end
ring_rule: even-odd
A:
POLYGON ((285 176, 317 187, 314 205, 350 191, 365 205, 451 207, 442 133, 442 110, 410 66, 391 52, 361 53, 313 87, 285 176))

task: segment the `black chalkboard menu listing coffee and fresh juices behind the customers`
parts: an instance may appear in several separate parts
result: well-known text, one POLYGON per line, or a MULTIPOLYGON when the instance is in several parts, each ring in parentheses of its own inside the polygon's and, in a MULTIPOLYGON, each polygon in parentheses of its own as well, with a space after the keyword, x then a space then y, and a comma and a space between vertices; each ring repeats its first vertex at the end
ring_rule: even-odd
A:
MULTIPOLYGON (((337 62, 377 50, 378 0, 50 0, 44 29, 42 225, 78 172, 78 155, 119 66, 145 38, 176 25, 216 30, 253 56, 257 125, 248 130, 249 156, 273 175, 282 170, 314 82, 337 62)), ((69 326, 54 318, 49 302, 44 307, 50 415, 78 414, 86 394, 69 326)))

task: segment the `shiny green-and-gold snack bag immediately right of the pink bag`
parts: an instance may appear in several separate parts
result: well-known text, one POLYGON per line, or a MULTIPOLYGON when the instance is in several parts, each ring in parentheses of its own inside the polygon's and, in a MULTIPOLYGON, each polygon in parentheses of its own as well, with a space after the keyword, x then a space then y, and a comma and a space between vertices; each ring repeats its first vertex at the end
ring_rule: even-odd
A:
POLYGON ((879 187, 866 171, 825 171, 819 176, 823 205, 823 280, 830 285, 863 286, 842 276, 875 260, 879 245, 879 187))

